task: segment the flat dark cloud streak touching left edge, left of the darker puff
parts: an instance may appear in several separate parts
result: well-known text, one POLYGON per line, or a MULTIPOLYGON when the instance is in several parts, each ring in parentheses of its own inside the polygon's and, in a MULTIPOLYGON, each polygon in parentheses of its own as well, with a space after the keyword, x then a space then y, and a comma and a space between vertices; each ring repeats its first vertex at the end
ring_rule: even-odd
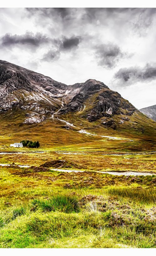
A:
POLYGON ((33 34, 32 32, 26 32, 23 35, 12 35, 8 33, 1 37, 1 44, 3 46, 24 44, 28 46, 38 47, 40 44, 45 44, 49 42, 50 39, 46 37, 46 35, 42 35, 41 33, 33 34))

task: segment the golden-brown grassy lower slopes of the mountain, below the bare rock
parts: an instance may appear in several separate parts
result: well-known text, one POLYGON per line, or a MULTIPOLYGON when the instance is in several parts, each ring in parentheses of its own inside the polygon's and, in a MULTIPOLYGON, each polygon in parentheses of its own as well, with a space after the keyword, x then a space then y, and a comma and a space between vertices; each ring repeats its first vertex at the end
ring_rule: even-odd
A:
MULTIPOLYGON (((12 109, 1 114, 0 119, 0 148, 7 147, 14 142, 23 139, 39 140, 41 149, 52 149, 58 146, 72 147, 73 149, 103 149, 110 151, 150 151, 155 150, 156 122, 147 118, 139 111, 128 116, 129 121, 120 124, 121 115, 114 115, 117 124, 116 129, 105 128, 103 118, 89 122, 83 118, 83 113, 67 113, 58 116, 74 125, 70 129, 64 128, 65 123, 57 118, 48 118, 42 123, 27 125, 22 121, 25 111, 12 109), (115 140, 85 133, 79 133, 84 129, 95 135, 122 138, 115 140), (124 140, 125 139, 125 140, 124 140), (129 139, 129 140, 127 140, 129 139), (131 141, 133 140, 133 141, 131 141)), ((123 115, 124 116, 124 115, 123 115)))

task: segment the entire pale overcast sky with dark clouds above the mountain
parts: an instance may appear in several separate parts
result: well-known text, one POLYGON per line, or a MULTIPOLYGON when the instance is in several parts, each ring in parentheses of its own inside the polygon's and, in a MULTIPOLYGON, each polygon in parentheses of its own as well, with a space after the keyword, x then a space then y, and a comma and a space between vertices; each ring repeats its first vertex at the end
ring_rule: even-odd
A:
POLYGON ((156 8, 0 8, 0 59, 156 104, 156 8))

